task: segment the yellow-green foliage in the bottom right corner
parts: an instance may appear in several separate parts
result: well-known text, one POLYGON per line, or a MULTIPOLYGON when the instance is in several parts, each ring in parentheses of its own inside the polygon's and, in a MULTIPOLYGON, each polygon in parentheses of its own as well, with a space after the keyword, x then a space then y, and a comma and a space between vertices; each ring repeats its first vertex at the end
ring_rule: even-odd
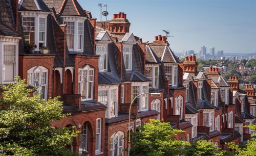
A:
MULTIPOLYGON (((246 127, 251 128, 253 131, 256 131, 256 124, 254 125, 248 125, 246 127)), ((255 136, 255 134, 252 134, 255 136)), ((236 153, 235 155, 256 155, 256 138, 252 138, 251 140, 248 140, 247 143, 244 145, 243 148, 240 148, 235 143, 226 143, 228 144, 228 148, 235 149, 236 153)))

